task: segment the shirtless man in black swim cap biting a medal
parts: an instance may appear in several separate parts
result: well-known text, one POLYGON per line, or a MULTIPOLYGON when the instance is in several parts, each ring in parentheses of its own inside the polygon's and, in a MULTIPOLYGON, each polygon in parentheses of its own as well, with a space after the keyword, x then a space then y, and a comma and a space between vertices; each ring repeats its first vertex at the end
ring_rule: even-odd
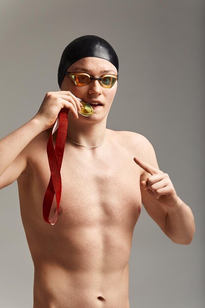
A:
MULTIPOLYGON (((112 47, 96 36, 79 38, 77 46, 81 47, 82 39, 90 49, 97 40, 99 56, 96 50, 83 56, 83 49, 79 60, 72 59, 65 71, 117 76, 112 47), (101 47, 108 49, 104 58, 101 47)), ((129 308, 128 261, 142 203, 177 244, 191 243, 194 217, 168 174, 159 170, 150 142, 135 132, 106 128, 117 81, 106 88, 97 79, 81 87, 68 75, 61 79, 61 91, 48 92, 37 114, 0 140, 0 188, 18 181, 34 263, 33 308, 129 308), (94 107, 91 117, 84 117, 77 112, 81 109, 78 98, 101 105, 94 107), (46 146, 63 107, 69 113, 62 195, 58 221, 51 225, 42 216, 50 179, 46 146)))

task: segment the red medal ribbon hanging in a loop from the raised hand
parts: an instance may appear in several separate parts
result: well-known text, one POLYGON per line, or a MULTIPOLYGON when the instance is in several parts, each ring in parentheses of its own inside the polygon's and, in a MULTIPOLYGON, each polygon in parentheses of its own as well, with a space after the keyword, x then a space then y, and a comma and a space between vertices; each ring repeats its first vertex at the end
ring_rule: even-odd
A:
POLYGON ((43 218, 46 222, 54 225, 59 216, 59 204, 61 198, 61 176, 60 168, 62 164, 62 157, 64 153, 65 141, 67 136, 67 119, 68 109, 62 108, 59 112, 59 117, 56 120, 53 130, 50 134, 47 144, 47 155, 49 161, 49 167, 51 171, 51 177, 46 189, 46 193, 43 199, 43 218), (56 137, 56 145, 54 148, 53 134, 58 129, 56 137), (54 195, 56 195, 57 210, 56 213, 49 218, 51 206, 53 203, 54 195))

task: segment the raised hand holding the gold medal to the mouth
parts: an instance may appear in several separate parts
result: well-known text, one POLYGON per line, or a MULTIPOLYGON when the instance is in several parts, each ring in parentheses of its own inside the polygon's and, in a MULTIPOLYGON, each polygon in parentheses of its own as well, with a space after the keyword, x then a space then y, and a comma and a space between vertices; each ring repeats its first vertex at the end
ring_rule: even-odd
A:
POLYGON ((46 130, 54 125, 62 108, 68 108, 73 117, 78 119, 78 110, 82 106, 79 98, 70 91, 48 92, 34 118, 42 121, 46 130))

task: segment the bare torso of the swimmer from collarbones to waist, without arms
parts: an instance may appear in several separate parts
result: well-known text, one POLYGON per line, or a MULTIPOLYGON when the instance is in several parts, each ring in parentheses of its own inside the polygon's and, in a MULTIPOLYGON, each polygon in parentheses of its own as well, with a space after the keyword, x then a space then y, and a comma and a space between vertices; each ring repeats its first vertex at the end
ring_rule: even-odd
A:
POLYGON ((32 143, 35 155, 18 187, 35 267, 34 307, 129 307, 128 260, 141 210, 142 172, 122 135, 107 130, 106 142, 91 150, 66 143, 55 226, 42 219, 50 178, 47 133, 32 143))

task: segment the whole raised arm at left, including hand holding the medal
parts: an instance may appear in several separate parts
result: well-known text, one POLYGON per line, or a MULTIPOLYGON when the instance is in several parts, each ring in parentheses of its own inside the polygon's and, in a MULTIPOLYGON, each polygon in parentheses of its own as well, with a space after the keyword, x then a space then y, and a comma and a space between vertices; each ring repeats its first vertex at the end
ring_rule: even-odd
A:
POLYGON ((60 110, 65 107, 78 118, 80 100, 69 91, 48 92, 37 112, 27 123, 0 140, 0 189, 13 183, 27 167, 29 142, 52 127, 60 110))

